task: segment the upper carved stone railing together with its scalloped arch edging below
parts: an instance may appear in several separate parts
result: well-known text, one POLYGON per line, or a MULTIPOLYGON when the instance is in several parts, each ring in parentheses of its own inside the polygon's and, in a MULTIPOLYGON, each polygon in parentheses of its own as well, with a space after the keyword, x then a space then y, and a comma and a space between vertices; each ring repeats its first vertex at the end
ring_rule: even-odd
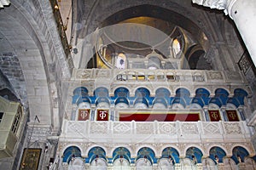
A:
POLYGON ((95 88, 103 86, 108 88, 110 95, 116 87, 122 85, 130 89, 131 95, 135 93, 133 89, 142 86, 148 88, 150 94, 163 87, 169 88, 174 94, 175 89, 181 86, 188 88, 192 95, 196 87, 212 89, 212 95, 216 87, 230 89, 230 94, 236 88, 242 88, 251 94, 251 88, 244 76, 237 71, 74 69, 71 81, 73 89, 85 86, 93 93, 95 88))

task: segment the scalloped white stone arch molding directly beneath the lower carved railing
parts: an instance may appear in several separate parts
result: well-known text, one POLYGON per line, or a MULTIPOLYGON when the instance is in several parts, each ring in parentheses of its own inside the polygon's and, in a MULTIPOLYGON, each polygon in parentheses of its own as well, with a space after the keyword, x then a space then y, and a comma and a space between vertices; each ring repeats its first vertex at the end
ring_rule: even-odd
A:
POLYGON ((126 144, 123 142, 113 144, 113 143, 108 143, 108 142, 101 142, 101 143, 90 143, 90 142, 72 142, 72 141, 67 141, 65 139, 60 139, 56 155, 63 156, 64 151, 70 147, 70 146, 77 146, 81 150, 81 156, 82 157, 87 157, 89 150, 92 149, 93 147, 100 146, 102 147, 103 150, 106 151, 106 156, 112 157, 113 150, 118 148, 119 146, 125 147, 131 152, 131 157, 136 157, 137 156, 137 151, 140 150, 143 147, 148 147, 154 150, 155 156, 160 157, 162 150, 164 150, 167 147, 172 147, 177 150, 179 153, 180 157, 186 156, 186 150, 189 149, 189 147, 197 147, 199 148, 203 156, 202 157, 208 157, 209 156, 209 150, 211 150, 212 147, 218 146, 225 150, 227 157, 232 156, 232 150, 236 146, 241 146, 244 147, 248 150, 250 156, 253 156, 254 150, 253 150, 253 145, 251 143, 246 143, 246 142, 231 142, 229 144, 224 144, 223 142, 205 142, 203 144, 199 143, 174 143, 174 144, 163 144, 163 143, 147 143, 147 142, 135 142, 132 144, 126 144))

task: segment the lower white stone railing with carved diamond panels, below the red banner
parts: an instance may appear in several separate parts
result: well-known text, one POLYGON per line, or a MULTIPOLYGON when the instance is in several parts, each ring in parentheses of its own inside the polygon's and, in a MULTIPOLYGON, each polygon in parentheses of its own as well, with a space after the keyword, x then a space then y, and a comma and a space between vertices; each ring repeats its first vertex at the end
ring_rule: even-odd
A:
POLYGON ((247 142, 250 131, 246 122, 63 122, 60 138, 73 142, 132 144, 247 142))

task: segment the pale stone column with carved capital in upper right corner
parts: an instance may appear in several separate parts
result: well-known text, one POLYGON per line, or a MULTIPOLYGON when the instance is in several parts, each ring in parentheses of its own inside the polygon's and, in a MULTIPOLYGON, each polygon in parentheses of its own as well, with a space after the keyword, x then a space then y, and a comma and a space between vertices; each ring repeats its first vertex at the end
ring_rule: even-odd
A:
POLYGON ((256 3, 255 0, 192 0, 209 8, 224 9, 236 23, 254 65, 256 65, 256 3))

